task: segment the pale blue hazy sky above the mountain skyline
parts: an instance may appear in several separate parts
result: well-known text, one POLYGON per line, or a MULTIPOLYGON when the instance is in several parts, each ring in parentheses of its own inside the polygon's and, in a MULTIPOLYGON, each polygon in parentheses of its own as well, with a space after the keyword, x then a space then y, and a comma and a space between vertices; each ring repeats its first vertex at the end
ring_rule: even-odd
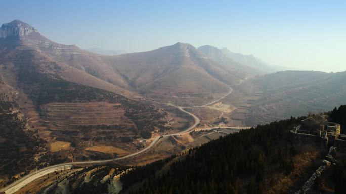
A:
POLYGON ((346 1, 7 1, 0 23, 79 47, 139 52, 190 43, 305 70, 346 70, 346 1))

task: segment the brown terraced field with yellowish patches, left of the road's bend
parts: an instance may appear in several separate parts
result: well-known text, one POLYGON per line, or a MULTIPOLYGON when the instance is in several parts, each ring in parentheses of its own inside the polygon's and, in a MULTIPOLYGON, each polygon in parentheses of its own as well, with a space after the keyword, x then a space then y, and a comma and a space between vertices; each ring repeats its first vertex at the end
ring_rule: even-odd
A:
POLYGON ((40 109, 39 125, 44 128, 42 132, 49 131, 46 140, 51 151, 63 155, 73 151, 79 160, 134 152, 138 146, 136 139, 141 139, 135 122, 124 116, 126 111, 120 103, 53 102, 40 109), (71 147, 57 150, 57 142, 71 143, 71 147))

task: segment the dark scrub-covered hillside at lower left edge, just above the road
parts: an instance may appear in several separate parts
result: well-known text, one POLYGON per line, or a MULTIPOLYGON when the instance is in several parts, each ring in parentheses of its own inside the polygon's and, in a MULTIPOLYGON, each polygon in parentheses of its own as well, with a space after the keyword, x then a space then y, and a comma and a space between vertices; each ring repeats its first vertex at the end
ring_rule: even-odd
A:
POLYGON ((0 171, 6 183, 14 181, 17 173, 63 161, 48 151, 45 140, 26 129, 20 114, 17 103, 0 100, 0 171))

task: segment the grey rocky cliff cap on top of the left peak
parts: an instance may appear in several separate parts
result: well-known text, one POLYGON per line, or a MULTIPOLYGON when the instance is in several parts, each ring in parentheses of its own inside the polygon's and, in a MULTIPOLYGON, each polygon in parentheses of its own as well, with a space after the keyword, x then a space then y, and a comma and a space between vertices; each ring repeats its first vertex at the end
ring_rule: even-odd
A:
POLYGON ((10 23, 3 24, 0 27, 0 38, 21 37, 30 35, 32 33, 37 33, 37 30, 29 24, 19 20, 14 20, 10 23))

